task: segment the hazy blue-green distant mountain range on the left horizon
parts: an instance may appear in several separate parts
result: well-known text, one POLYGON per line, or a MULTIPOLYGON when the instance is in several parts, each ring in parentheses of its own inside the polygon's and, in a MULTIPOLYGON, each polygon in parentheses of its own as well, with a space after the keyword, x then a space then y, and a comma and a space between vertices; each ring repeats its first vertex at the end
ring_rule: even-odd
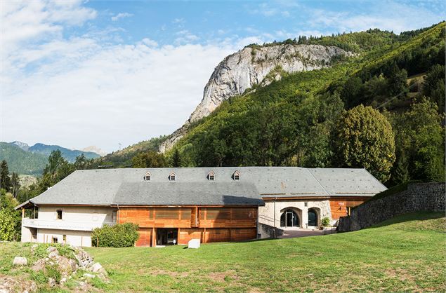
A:
POLYGON ((6 160, 8 162, 10 172, 17 172, 22 175, 41 175, 51 151, 57 149, 60 150, 65 160, 69 162, 74 162, 76 157, 81 154, 84 154, 86 158, 100 157, 100 154, 93 151, 79 151, 41 143, 29 147, 25 142, 15 141, 0 142, 0 161, 6 160))

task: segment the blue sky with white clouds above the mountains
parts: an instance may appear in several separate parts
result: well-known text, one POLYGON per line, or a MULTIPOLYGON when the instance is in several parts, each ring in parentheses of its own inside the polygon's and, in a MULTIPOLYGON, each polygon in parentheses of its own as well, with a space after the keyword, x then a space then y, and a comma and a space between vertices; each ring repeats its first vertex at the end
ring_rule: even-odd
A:
POLYGON ((249 43, 399 33, 442 1, 0 1, 0 141, 116 151, 181 127, 249 43))

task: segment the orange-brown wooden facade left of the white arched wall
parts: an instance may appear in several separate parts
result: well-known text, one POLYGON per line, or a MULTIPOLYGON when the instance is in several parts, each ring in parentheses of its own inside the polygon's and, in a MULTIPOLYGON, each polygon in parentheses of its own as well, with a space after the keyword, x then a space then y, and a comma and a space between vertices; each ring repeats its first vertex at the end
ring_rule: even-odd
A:
POLYGON ((244 207, 119 207, 118 222, 139 226, 136 246, 155 246, 157 232, 175 229, 178 244, 241 241, 257 236, 258 208, 244 207))

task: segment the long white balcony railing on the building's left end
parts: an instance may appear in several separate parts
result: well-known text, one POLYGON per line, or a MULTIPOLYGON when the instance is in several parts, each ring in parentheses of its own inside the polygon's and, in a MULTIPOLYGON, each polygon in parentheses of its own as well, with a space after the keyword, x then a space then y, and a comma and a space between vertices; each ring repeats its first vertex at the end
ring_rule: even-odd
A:
POLYGON ((41 229, 58 229, 58 230, 74 230, 74 231, 92 231, 103 225, 113 225, 111 222, 70 222, 64 220, 41 220, 22 218, 22 226, 41 229))

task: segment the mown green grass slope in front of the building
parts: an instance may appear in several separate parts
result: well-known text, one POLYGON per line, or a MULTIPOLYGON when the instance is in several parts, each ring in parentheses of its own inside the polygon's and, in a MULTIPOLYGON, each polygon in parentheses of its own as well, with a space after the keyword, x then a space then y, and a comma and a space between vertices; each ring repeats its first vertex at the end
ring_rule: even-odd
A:
POLYGON ((419 213, 330 236, 88 252, 106 291, 444 291, 445 223, 419 213))

